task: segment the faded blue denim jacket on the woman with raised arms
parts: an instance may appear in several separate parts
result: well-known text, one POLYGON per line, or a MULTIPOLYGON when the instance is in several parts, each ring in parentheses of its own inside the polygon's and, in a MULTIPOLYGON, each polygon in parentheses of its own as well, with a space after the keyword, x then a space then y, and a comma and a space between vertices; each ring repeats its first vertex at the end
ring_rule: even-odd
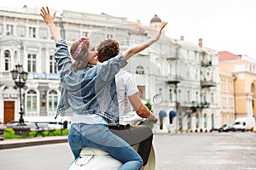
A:
POLYGON ((119 121, 114 77, 127 65, 122 54, 102 64, 73 71, 67 43, 60 40, 56 42, 55 61, 62 85, 56 116, 71 107, 74 114, 97 114, 111 122, 119 121))

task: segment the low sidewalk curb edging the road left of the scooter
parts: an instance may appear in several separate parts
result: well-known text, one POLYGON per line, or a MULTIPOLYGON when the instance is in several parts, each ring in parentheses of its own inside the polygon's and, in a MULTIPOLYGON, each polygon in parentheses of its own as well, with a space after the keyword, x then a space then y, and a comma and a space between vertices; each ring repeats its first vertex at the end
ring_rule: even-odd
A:
POLYGON ((57 144, 65 142, 67 142, 67 136, 40 136, 32 139, 5 139, 0 141, 0 150, 41 144, 57 144))

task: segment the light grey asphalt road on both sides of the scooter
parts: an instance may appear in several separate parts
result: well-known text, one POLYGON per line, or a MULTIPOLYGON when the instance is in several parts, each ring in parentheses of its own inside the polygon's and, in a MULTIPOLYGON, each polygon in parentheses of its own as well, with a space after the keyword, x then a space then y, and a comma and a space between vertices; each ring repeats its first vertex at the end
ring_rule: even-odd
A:
MULTIPOLYGON (((256 170, 256 133, 155 134, 157 170, 256 170)), ((1 170, 63 170, 67 143, 0 150, 1 170)))

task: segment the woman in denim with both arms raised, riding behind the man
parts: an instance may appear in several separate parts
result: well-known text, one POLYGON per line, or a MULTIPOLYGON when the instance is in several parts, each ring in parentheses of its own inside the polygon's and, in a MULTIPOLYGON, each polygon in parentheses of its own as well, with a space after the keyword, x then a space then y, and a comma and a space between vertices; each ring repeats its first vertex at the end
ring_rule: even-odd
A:
MULTIPOLYGON (((127 65, 132 55, 139 53, 156 42, 166 22, 160 25, 156 36, 148 42, 128 48, 112 59, 98 64, 97 52, 90 41, 80 38, 73 42, 68 52, 67 43, 57 31, 49 8, 41 8, 41 16, 49 26, 55 40, 55 61, 60 74, 62 92, 57 114, 73 109, 73 121, 68 134, 68 143, 75 158, 83 147, 95 147, 107 151, 123 163, 119 169, 143 168, 143 159, 130 144, 111 132, 108 124, 119 123, 119 104, 115 75, 127 65), (75 60, 72 62, 71 57, 75 60), (95 65, 95 66, 91 66, 95 65)), ((100 48, 99 48, 100 49, 100 48)), ((140 111, 140 106, 137 111, 140 111)), ((145 118, 152 116, 143 112, 145 118)))

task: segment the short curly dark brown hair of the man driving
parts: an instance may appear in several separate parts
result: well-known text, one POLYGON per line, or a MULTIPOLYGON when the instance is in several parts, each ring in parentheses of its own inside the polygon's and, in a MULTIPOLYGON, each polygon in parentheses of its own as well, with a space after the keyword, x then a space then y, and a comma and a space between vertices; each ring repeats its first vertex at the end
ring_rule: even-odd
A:
POLYGON ((100 62, 107 61, 119 54, 119 42, 113 39, 106 39, 97 46, 98 57, 100 62))

